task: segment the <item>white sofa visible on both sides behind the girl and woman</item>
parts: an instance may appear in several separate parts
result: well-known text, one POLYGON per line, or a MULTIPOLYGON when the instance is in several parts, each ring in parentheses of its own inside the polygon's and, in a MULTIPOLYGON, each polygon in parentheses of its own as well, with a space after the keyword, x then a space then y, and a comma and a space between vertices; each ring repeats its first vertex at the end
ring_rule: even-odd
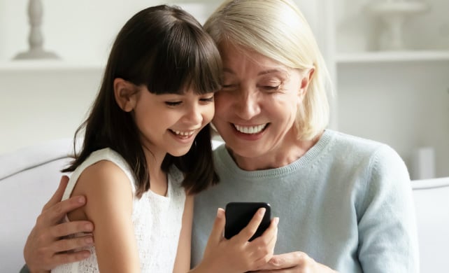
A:
MULTIPOLYGON (((60 139, 0 155, 0 272, 19 272, 24 264, 24 242, 71 151, 71 139, 60 139)), ((448 272, 449 177, 412 181, 412 186, 421 272, 448 272)))

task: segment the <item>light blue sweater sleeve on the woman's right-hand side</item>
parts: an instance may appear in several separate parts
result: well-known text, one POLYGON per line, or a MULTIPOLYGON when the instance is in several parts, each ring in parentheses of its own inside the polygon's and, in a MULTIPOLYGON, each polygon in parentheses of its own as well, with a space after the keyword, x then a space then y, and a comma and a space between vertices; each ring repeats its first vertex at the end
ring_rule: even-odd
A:
POLYGON ((404 161, 389 146, 371 156, 362 195, 356 209, 363 271, 419 272, 411 182, 404 161))

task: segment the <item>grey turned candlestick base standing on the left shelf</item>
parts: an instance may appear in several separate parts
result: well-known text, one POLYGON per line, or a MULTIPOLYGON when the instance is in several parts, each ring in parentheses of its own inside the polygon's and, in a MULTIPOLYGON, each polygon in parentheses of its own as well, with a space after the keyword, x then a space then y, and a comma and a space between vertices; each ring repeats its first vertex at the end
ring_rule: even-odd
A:
POLYGON ((20 52, 14 59, 59 59, 53 53, 43 49, 43 35, 41 31, 43 8, 41 0, 29 0, 28 17, 30 31, 28 36, 29 50, 20 52))

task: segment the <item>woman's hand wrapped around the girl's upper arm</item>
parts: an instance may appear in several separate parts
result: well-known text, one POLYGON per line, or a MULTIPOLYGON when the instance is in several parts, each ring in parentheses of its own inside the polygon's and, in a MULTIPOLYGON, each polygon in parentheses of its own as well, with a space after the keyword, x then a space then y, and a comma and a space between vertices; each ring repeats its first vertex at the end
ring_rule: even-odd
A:
POLYGON ((64 216, 73 209, 85 205, 85 197, 76 196, 61 202, 69 182, 62 176, 59 187, 38 216, 24 247, 24 258, 30 272, 48 272, 57 265, 83 260, 90 251, 73 251, 93 244, 92 235, 76 239, 63 239, 78 232, 92 232, 94 225, 88 221, 61 223, 64 216))

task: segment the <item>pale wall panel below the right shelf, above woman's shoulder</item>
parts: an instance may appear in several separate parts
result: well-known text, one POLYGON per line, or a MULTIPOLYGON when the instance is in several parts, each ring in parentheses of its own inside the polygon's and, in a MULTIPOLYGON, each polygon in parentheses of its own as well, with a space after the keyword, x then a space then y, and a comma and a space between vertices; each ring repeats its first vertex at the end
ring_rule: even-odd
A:
POLYGON ((448 76, 448 61, 341 64, 338 130, 389 144, 411 171, 413 151, 431 147, 435 175, 449 176, 448 76))

